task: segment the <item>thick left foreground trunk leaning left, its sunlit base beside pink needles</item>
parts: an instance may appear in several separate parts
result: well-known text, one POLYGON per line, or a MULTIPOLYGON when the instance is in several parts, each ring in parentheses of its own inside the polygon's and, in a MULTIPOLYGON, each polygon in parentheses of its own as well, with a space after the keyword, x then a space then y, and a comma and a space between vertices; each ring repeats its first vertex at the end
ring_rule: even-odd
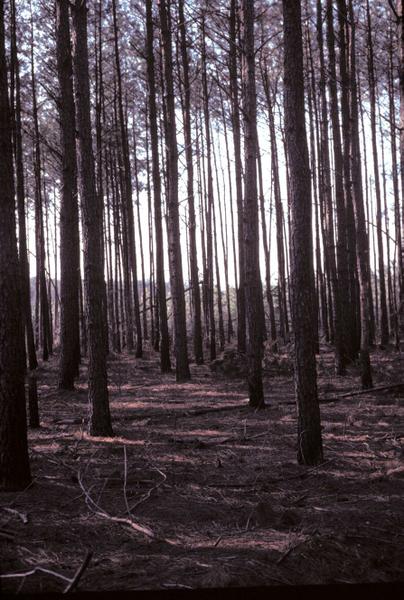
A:
POLYGON ((106 326, 103 309, 103 205, 95 189, 88 72, 87 4, 77 0, 73 10, 73 66, 76 92, 77 155, 84 237, 84 284, 88 337, 88 399, 90 435, 111 436, 106 326))

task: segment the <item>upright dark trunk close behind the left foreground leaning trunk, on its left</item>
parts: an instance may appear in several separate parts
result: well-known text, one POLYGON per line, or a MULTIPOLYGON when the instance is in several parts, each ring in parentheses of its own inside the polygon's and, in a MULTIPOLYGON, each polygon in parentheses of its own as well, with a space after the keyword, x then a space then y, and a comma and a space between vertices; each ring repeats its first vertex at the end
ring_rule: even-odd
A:
POLYGON ((76 119, 70 47, 69 5, 56 0, 56 55, 59 79, 62 193, 60 205, 60 362, 59 387, 73 389, 80 358, 80 242, 76 171, 76 119))

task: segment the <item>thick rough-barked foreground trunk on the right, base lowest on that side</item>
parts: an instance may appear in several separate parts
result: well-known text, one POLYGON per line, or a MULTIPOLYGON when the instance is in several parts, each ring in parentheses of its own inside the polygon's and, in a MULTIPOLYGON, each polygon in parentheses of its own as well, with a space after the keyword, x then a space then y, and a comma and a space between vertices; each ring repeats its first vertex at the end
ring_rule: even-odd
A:
POLYGON ((292 319, 295 337, 295 390, 298 462, 322 461, 320 409, 315 359, 314 271, 311 180, 307 149, 300 0, 283 0, 285 136, 291 207, 292 319))

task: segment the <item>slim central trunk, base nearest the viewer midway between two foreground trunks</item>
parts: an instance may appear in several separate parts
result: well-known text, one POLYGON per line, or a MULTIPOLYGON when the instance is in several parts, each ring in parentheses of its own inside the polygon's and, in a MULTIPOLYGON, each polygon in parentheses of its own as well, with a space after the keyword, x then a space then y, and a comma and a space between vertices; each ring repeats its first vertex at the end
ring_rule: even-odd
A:
POLYGON ((176 380, 191 378, 188 363, 185 295, 182 275, 180 219, 178 208, 178 148, 175 123, 174 82, 171 43, 171 0, 159 0, 163 73, 165 82, 165 136, 167 148, 167 212, 170 287, 174 312, 176 380))

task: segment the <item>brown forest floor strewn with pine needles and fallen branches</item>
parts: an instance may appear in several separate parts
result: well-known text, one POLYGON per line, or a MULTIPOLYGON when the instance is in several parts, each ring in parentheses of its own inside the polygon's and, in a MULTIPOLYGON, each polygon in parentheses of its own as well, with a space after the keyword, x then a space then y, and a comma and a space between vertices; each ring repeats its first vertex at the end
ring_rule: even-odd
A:
MULTIPOLYGON (((375 385, 404 381, 404 355, 372 359, 375 385)), ((34 482, 0 494, 3 576, 43 567, 69 579, 91 550, 82 591, 404 580, 403 391, 321 404, 324 463, 308 468, 296 463, 290 372, 266 374, 256 412, 243 379, 191 371, 176 384, 150 352, 110 360, 115 437, 104 439, 86 433, 85 367, 61 392, 57 358, 41 365, 34 482)), ((327 350, 318 372, 321 398, 359 389, 356 368, 335 377, 327 350)), ((35 572, 1 584, 67 581, 35 572)))

